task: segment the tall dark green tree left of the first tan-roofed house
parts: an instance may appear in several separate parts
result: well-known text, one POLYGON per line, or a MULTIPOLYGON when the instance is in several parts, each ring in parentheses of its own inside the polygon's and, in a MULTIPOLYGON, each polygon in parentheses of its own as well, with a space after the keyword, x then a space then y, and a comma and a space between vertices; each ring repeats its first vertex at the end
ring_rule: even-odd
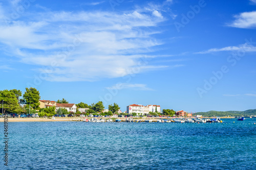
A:
POLYGON ((23 100, 27 104, 26 107, 32 107, 33 109, 39 109, 39 99, 40 99, 40 93, 36 88, 30 87, 26 88, 25 93, 23 94, 23 100))

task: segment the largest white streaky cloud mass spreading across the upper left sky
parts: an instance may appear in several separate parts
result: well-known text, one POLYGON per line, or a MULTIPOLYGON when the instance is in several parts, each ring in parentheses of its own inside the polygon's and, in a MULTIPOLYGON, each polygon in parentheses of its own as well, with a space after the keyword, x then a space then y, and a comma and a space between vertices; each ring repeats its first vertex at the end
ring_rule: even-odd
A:
POLYGON ((162 44, 153 35, 161 33, 155 28, 164 19, 152 12, 47 11, 27 18, 0 25, 0 50, 47 72, 48 81, 94 81, 166 67, 139 65, 162 44))

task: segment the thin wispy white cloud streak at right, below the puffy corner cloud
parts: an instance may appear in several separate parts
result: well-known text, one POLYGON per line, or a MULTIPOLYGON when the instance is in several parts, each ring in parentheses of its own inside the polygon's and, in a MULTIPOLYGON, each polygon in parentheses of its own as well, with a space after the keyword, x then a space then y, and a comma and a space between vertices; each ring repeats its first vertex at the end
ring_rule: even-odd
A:
POLYGON ((256 47, 253 46, 254 42, 244 43, 238 46, 226 46, 223 48, 211 48, 206 51, 198 52, 195 54, 207 54, 207 53, 214 53, 214 52, 223 52, 223 51, 244 51, 244 52, 256 52, 256 47))

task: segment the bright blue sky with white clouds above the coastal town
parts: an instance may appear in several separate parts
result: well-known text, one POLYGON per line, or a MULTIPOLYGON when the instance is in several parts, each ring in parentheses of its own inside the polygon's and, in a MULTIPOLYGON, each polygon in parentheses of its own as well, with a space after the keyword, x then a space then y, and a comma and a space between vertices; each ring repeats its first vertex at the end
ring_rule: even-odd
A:
POLYGON ((0 0, 0 90, 41 100, 256 109, 256 1, 0 0))

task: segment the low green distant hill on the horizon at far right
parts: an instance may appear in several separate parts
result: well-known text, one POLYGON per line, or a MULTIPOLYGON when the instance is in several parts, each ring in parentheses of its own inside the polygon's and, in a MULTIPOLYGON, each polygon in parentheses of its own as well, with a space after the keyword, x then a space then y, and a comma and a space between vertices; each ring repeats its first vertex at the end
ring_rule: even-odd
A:
POLYGON ((256 109, 250 109, 245 111, 215 111, 197 112, 197 115, 202 116, 250 116, 256 115, 256 109))

